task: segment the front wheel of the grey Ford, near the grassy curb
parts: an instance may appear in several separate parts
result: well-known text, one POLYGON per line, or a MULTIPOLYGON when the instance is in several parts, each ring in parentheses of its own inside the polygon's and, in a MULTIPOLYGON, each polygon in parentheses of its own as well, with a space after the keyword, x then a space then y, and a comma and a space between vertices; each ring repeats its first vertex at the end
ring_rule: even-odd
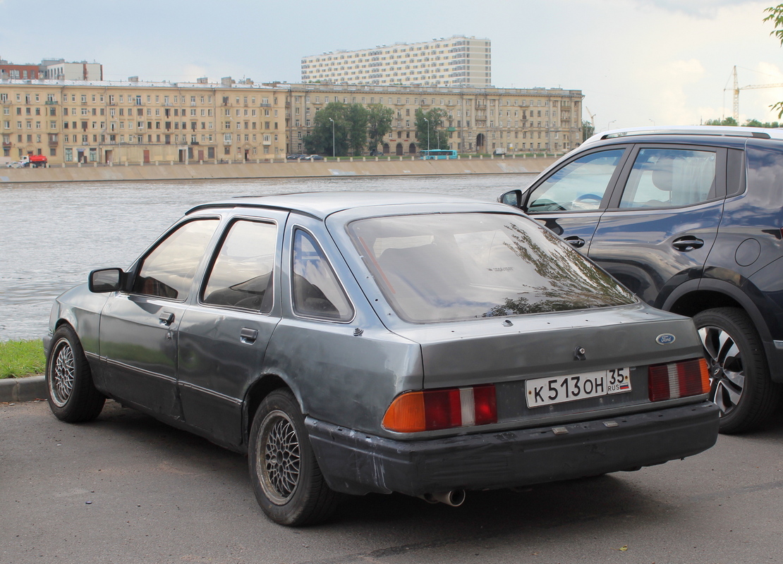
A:
POLYGON ((96 419, 106 401, 96 390, 85 351, 68 325, 61 325, 52 337, 46 359, 46 393, 55 417, 69 423, 96 419))

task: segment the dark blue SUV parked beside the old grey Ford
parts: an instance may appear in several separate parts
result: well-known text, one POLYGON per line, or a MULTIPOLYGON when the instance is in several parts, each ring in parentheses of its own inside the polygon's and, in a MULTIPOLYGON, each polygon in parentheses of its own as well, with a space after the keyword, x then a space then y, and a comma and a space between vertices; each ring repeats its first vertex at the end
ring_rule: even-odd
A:
POLYGON ((774 412, 783 390, 783 131, 607 131, 500 201, 648 304, 694 319, 723 433, 774 412))

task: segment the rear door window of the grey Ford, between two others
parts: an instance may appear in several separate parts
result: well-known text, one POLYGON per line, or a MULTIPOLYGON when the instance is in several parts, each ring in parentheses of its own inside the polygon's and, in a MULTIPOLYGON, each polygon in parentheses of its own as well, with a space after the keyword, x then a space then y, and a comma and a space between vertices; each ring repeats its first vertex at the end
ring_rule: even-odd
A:
POLYGON ((204 304, 272 311, 276 241, 272 223, 235 221, 204 286, 204 304))

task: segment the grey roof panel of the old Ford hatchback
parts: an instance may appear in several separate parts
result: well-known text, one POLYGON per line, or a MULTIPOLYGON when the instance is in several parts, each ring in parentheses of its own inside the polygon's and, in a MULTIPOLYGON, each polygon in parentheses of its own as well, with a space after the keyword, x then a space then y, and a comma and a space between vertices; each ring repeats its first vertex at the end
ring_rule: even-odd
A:
POLYGON ((482 202, 478 199, 463 196, 449 196, 424 192, 371 192, 371 191, 336 191, 336 192, 295 192, 276 194, 273 196, 238 196, 211 203, 202 203, 192 207, 187 214, 200 210, 215 208, 252 208, 264 207, 279 210, 298 211, 303 214, 325 219, 338 211, 359 207, 393 206, 401 204, 445 205, 453 203, 471 203, 476 210, 496 207, 496 204, 482 202))

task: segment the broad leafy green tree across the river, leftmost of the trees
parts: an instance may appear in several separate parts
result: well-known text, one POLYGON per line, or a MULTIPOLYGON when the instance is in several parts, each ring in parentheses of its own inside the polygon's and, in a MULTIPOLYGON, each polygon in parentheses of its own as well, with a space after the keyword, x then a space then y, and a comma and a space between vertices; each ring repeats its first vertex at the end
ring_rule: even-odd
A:
POLYGON ((313 129, 305 136, 308 153, 361 155, 367 144, 367 110, 361 104, 329 102, 316 112, 313 129), (334 146, 333 146, 334 140, 334 146))

